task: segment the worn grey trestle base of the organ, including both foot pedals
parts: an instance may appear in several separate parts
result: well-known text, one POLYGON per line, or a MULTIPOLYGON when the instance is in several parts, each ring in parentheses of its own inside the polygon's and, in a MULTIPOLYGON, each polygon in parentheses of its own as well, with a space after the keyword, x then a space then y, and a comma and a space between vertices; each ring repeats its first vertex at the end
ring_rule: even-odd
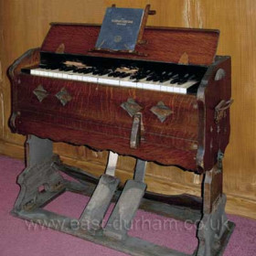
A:
POLYGON ((18 176, 21 190, 12 214, 131 255, 188 255, 127 235, 137 209, 143 208, 166 217, 198 223, 198 247, 192 255, 222 255, 235 225, 225 214, 221 159, 205 175, 202 202, 198 197, 187 195, 178 200, 176 196, 144 192, 146 162, 139 159, 133 179, 119 187, 120 181, 114 176, 117 158, 118 155, 110 152, 105 174, 97 179, 76 167, 61 164, 58 155, 52 154, 50 141, 28 136, 27 168, 18 176), (75 177, 78 182, 63 178, 61 172, 75 177), (43 208, 66 191, 91 196, 80 219, 70 219, 43 208), (102 219, 111 202, 116 202, 115 207, 102 228, 102 219))

